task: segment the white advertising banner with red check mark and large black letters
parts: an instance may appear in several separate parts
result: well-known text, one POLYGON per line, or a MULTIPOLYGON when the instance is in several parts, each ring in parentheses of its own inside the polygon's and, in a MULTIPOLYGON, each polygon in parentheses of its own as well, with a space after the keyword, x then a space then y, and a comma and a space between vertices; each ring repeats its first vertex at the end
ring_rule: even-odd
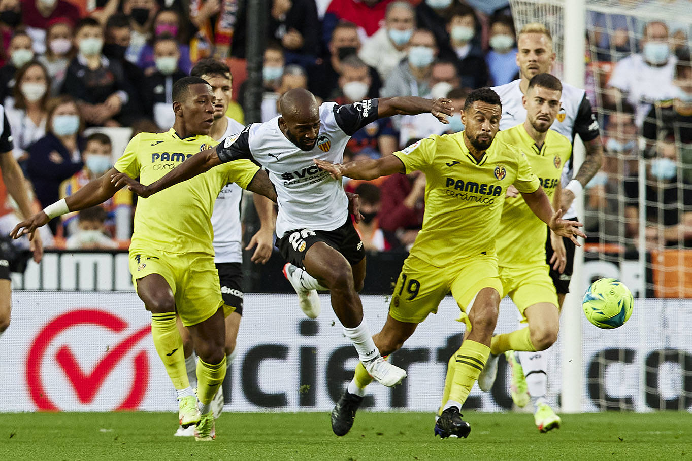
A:
MULTIPOLYGON (((353 375, 356 352, 329 296, 320 298, 322 314, 310 320, 295 295, 246 294, 238 353, 224 383, 227 411, 331 411, 353 375)), ((379 331, 387 297, 361 298, 370 329, 379 331)), ((585 323, 583 411, 690 408, 690 313, 692 301, 639 299, 630 321, 617 330, 585 323)), ((460 344, 458 314, 448 297, 437 315, 421 323, 392 355, 408 378, 394 389, 372 384, 366 408, 436 410, 447 360, 460 344)), ((0 411, 176 411, 149 322, 134 292, 15 291, 12 324, 0 338, 0 411)), ((516 326, 516 309, 505 299, 497 330, 516 326)), ((553 400, 557 357, 551 354, 548 371, 553 400)), ((511 408, 504 359, 493 390, 475 387, 469 407, 511 408)))

